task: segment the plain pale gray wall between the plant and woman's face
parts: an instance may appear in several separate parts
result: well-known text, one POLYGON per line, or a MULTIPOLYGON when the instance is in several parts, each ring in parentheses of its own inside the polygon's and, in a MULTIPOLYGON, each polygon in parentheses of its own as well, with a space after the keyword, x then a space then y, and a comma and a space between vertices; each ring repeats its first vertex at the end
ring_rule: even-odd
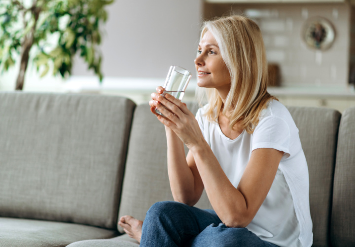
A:
MULTIPOLYGON (((102 51, 107 77, 165 78, 170 65, 194 72, 202 0, 116 0, 102 51)), ((88 75, 77 62, 73 75, 88 75)))

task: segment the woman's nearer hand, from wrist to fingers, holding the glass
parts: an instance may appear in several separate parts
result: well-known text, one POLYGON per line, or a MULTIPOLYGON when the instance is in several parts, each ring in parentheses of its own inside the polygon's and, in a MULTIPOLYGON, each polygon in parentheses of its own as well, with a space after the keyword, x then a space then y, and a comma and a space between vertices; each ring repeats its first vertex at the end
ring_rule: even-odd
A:
POLYGON ((152 93, 151 96, 153 99, 149 102, 151 111, 155 110, 155 108, 152 109, 152 106, 155 106, 164 115, 155 114, 158 120, 172 129, 189 149, 204 142, 200 126, 185 103, 170 94, 163 97, 159 93, 152 93))

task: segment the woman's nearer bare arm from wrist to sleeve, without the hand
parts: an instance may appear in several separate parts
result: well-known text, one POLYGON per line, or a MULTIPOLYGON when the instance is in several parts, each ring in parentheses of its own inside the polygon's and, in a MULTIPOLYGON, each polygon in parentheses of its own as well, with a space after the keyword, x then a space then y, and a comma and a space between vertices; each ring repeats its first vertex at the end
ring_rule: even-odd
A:
POLYGON ((268 148, 252 151, 237 188, 229 181, 209 146, 200 146, 191 152, 218 217, 229 227, 249 225, 271 188, 283 152, 268 148))

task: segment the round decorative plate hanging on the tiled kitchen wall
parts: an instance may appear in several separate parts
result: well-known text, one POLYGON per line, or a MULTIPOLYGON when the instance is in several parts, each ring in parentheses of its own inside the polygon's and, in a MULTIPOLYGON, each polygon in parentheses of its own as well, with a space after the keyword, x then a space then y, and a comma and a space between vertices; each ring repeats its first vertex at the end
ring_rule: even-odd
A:
POLYGON ((302 38, 310 48, 327 50, 334 43, 335 30, 327 19, 313 17, 306 20, 303 25, 302 38))

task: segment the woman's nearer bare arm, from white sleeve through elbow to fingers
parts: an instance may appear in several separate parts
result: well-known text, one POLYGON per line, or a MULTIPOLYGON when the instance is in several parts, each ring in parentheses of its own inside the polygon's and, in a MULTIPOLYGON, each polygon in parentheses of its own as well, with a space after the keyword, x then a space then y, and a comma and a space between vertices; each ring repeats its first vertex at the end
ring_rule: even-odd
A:
POLYGON ((241 181, 235 188, 203 139, 197 121, 191 119, 186 106, 171 95, 157 100, 169 109, 157 104, 158 109, 166 116, 158 117, 159 121, 170 127, 189 148, 219 218, 229 227, 247 226, 271 188, 283 152, 268 148, 252 151, 241 181))

